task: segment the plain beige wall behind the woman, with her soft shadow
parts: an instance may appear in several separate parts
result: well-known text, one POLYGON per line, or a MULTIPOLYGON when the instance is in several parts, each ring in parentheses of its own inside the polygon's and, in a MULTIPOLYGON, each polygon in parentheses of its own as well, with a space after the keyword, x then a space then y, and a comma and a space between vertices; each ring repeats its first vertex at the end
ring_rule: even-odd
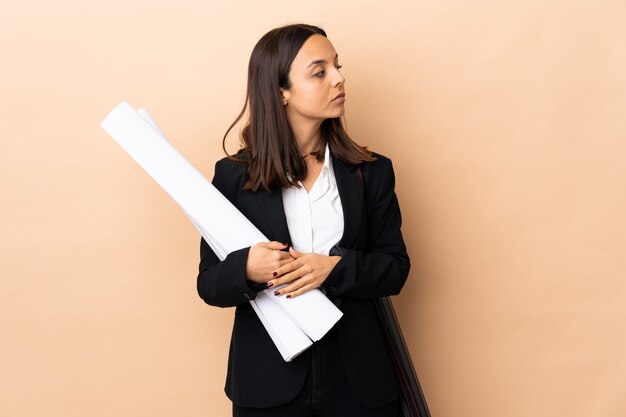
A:
POLYGON ((211 177, 254 43, 296 21, 394 161, 432 415, 625 415, 623 1, 87 3, 0 7, 0 415, 228 415, 232 310, 99 123, 145 106, 211 177))

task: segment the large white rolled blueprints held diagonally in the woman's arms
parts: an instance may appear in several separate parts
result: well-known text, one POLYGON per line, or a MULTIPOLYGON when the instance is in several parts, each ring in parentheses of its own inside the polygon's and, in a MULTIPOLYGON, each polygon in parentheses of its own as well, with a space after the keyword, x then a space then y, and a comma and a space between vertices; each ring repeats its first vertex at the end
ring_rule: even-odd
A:
MULTIPOLYGON (((176 201, 218 258, 268 239, 168 142, 147 111, 127 102, 102 128, 176 201)), ((286 299, 259 292, 252 307, 286 361, 321 339, 341 311, 319 290, 286 299), (308 336, 308 337, 307 337, 308 336)))

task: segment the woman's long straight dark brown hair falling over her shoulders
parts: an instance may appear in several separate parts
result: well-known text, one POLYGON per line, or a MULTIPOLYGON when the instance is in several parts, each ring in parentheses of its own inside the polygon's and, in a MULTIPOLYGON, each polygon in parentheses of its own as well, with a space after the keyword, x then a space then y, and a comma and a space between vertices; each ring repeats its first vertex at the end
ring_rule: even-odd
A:
MULTIPOLYGON (((241 132, 242 148, 229 158, 248 163, 248 180, 244 190, 270 191, 275 186, 298 186, 306 175, 306 162, 298 151, 297 142, 282 104, 280 88, 291 87, 289 70, 298 51, 312 35, 326 36, 317 26, 294 24, 273 29, 263 35, 250 56, 246 102, 230 125, 222 148, 226 155, 226 137, 250 106, 248 121, 241 132), (245 157, 247 153, 247 158, 245 157), (291 175, 291 180, 287 174, 291 175)), ((330 153, 349 164, 373 161, 367 148, 357 145, 346 133, 341 118, 326 119, 320 126, 321 148, 316 154, 324 160, 328 144, 330 153)))

